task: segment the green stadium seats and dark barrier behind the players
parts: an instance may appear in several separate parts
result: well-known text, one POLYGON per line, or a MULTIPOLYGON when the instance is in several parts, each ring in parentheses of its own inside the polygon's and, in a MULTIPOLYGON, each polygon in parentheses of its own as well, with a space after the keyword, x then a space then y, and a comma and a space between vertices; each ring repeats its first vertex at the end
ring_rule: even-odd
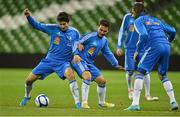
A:
MULTIPOLYGON (((81 34, 96 29, 99 19, 112 22, 109 46, 116 50, 118 31, 123 15, 129 11, 132 0, 0 0, 0 67, 34 67, 44 57, 49 47, 49 36, 33 29, 22 14, 29 8, 40 22, 56 23, 59 11, 72 15, 70 24, 81 34)), ((171 44, 170 70, 180 70, 180 1, 145 0, 148 12, 176 28, 176 40, 171 44)), ((124 57, 119 59, 123 64, 124 57)), ((96 65, 102 69, 112 69, 104 64, 100 55, 96 65)))

